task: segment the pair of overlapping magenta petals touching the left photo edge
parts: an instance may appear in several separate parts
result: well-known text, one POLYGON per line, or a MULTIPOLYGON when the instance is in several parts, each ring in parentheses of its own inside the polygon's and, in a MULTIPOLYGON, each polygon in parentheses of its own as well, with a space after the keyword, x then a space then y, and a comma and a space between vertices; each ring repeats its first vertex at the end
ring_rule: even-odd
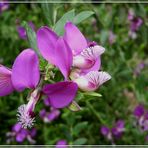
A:
POLYGON ((0 96, 23 91, 25 88, 36 88, 40 79, 39 61, 32 49, 22 51, 9 69, 0 66, 0 96))

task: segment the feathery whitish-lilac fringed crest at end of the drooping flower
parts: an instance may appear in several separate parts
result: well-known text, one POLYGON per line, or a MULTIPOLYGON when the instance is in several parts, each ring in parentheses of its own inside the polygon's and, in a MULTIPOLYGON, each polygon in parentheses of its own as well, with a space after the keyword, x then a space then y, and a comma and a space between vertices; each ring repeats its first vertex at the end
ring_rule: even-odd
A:
POLYGON ((27 105, 23 104, 18 108, 17 119, 23 128, 31 128, 34 125, 35 117, 31 117, 26 107, 27 105))

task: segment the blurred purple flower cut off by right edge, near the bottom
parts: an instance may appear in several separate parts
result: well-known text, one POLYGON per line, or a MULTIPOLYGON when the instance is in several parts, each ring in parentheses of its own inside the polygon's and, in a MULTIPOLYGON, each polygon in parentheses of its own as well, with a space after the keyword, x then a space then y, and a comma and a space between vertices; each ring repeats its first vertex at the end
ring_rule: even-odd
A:
POLYGON ((143 105, 138 105, 133 114, 136 118, 136 125, 140 131, 148 131, 148 110, 146 110, 143 105))

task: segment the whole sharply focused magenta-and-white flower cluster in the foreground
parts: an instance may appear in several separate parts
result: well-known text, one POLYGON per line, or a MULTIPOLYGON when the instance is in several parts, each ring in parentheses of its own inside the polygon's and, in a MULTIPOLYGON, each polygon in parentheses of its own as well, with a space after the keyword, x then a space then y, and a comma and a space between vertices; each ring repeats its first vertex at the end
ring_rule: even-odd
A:
POLYGON ((45 81, 45 72, 40 71, 38 54, 30 48, 17 56, 12 69, 0 65, 0 96, 14 90, 22 92, 26 88, 31 89, 28 103, 18 108, 18 122, 24 128, 33 126, 34 109, 42 95, 48 98, 50 106, 54 108, 52 112, 55 113, 55 109, 68 107, 73 102, 78 88, 82 91, 95 91, 111 79, 107 72, 99 71, 100 56, 105 49, 95 42, 88 42, 72 22, 65 24, 65 34, 62 37, 47 26, 39 28, 37 46, 48 65, 60 70, 63 81, 52 84, 45 81))

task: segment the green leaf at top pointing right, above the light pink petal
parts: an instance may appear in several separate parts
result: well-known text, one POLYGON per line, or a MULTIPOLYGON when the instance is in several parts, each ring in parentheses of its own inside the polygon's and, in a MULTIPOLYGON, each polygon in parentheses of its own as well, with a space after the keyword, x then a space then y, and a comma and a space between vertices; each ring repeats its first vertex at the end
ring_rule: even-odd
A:
POLYGON ((84 21, 85 19, 87 19, 88 17, 90 17, 91 15, 93 15, 94 12, 93 11, 83 11, 83 12, 80 12, 79 14, 77 14, 74 18, 74 23, 75 24, 79 24, 81 23, 82 21, 84 21))

